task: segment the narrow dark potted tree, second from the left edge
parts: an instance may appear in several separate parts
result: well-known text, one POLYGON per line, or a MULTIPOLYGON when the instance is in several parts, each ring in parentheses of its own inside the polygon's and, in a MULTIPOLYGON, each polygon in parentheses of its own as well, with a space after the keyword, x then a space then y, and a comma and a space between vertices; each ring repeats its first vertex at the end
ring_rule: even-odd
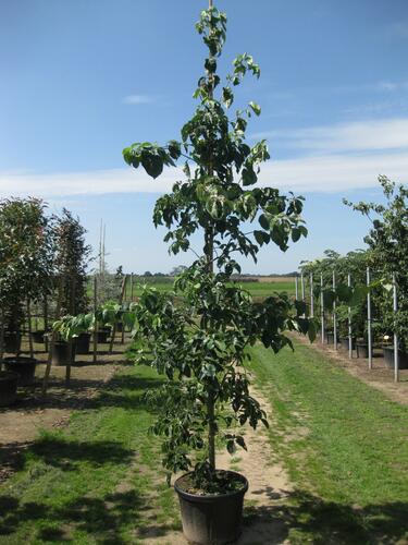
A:
MULTIPOLYGON (((90 246, 85 242, 86 230, 65 208, 55 220, 55 279, 58 282, 60 315, 77 315, 88 311, 87 266, 90 246)), ((76 354, 89 352, 90 334, 83 331, 67 342, 58 339, 53 343, 52 362, 66 365, 76 354)))

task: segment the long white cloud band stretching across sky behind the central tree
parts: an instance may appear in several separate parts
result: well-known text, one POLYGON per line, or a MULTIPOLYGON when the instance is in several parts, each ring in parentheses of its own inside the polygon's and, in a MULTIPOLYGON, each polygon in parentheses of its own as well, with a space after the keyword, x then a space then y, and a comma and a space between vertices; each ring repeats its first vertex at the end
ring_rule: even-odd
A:
MULTIPOLYGON (((260 185, 297 192, 344 192, 374 187, 378 175, 408 183, 408 154, 325 155, 269 161, 260 185)), ((164 193, 183 179, 180 169, 165 169, 157 180, 143 170, 112 169, 57 174, 1 174, 0 197, 35 195, 44 198, 109 193, 164 193)))

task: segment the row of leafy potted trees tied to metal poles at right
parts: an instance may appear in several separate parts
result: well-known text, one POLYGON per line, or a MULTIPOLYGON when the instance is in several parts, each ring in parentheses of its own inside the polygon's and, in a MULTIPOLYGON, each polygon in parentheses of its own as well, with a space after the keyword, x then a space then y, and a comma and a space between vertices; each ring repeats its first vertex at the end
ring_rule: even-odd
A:
MULTIPOLYGON (((367 250, 349 252, 345 256, 327 250, 324 257, 301 264, 305 276, 310 274, 317 280, 314 295, 318 304, 321 298, 320 278, 323 279, 325 302, 326 341, 333 342, 333 300, 336 301, 336 326, 341 343, 348 350, 348 319, 351 319, 353 348, 359 358, 368 358, 368 308, 367 293, 371 298, 371 336, 373 346, 382 347, 384 360, 394 366, 393 335, 398 336, 399 367, 408 367, 408 211, 404 185, 397 185, 380 177, 383 204, 358 203, 347 205, 367 216, 371 221, 369 234, 364 238, 367 250), (367 268, 370 282, 367 286, 367 268), (333 286, 333 271, 336 290, 333 286), (348 289, 348 275, 351 290, 348 289), (398 310, 393 308, 393 279, 397 287, 398 310), (353 301, 350 301, 354 291, 353 301), (357 295, 357 296, 356 296, 357 295)), ((318 318, 319 319, 319 318, 318 318)))

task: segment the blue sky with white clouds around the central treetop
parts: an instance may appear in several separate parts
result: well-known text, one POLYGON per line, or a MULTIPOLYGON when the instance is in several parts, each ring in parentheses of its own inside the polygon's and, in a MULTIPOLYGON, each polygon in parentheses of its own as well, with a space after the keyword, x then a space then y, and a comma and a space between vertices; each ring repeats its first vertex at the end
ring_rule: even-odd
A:
MULTIPOLYGON (((342 197, 380 198, 376 177, 408 182, 406 0, 220 0, 228 16, 221 71, 260 63, 239 99, 262 107, 248 135, 268 137, 262 184, 307 198, 307 241, 262 251, 252 272, 284 272, 326 247, 362 246, 363 218, 342 197)), ((0 0, 0 197, 42 196, 77 213, 109 262, 170 270, 151 209, 177 172, 127 169, 132 142, 177 137, 205 55, 194 29, 205 1, 0 0)))

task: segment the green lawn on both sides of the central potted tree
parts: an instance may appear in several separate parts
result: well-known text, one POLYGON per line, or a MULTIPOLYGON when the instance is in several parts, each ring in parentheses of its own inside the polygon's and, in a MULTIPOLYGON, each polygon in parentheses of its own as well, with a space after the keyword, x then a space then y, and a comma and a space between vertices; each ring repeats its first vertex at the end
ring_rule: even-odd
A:
MULTIPOLYGON (((297 544, 403 540, 408 408, 309 347, 296 343, 294 354, 277 356, 256 347, 252 354, 273 408, 273 457, 295 492, 270 510, 249 502, 246 523, 283 520, 297 544)), ((14 460, 20 470, 0 486, 1 544, 131 544, 146 536, 165 543, 165 533, 180 529, 158 440, 147 433, 154 414, 143 393, 159 384, 149 368, 121 367, 66 428, 44 434, 14 460)), ((0 463, 8 456, 0 449, 0 463)))

